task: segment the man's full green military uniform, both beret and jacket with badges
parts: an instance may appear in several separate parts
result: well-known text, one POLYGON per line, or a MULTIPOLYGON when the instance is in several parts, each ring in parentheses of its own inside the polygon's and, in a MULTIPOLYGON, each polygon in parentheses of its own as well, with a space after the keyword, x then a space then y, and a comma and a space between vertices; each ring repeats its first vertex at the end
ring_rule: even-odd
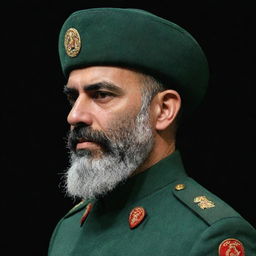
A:
MULTIPOLYGON (((181 95, 183 121, 207 89, 208 63, 197 41, 143 10, 74 12, 61 28, 59 55, 66 78, 97 65, 153 76, 181 95)), ((80 255, 255 256, 256 231, 187 176, 177 151, 59 222, 49 256, 80 255)))

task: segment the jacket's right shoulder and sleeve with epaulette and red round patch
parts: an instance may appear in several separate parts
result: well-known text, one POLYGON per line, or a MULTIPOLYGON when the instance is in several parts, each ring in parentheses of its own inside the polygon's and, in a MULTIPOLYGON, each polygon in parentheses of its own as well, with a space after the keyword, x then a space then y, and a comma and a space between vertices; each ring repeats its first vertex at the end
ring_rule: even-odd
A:
POLYGON ((256 230, 237 211, 201 186, 185 177, 175 183, 173 194, 191 214, 208 227, 195 237, 190 256, 254 255, 256 230))

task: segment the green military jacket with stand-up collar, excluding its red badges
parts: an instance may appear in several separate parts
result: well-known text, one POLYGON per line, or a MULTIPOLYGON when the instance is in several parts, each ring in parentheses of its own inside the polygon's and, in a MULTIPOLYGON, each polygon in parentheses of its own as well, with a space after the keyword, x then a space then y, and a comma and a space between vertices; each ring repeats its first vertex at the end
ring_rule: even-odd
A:
POLYGON ((179 152, 92 202, 80 224, 87 204, 73 208, 59 222, 49 256, 215 256, 229 238, 242 243, 246 256, 256 255, 256 230, 187 176, 179 152), (208 203, 202 208, 195 200, 200 196, 208 203), (128 216, 137 206, 146 216, 131 229, 128 216))

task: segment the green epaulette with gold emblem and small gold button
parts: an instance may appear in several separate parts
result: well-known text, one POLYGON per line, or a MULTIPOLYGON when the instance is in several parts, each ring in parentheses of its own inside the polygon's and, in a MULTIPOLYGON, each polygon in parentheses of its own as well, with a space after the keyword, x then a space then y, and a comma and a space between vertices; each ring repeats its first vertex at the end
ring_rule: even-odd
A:
POLYGON ((173 193, 209 225, 222 218, 240 216, 219 197, 189 177, 178 180, 173 193))

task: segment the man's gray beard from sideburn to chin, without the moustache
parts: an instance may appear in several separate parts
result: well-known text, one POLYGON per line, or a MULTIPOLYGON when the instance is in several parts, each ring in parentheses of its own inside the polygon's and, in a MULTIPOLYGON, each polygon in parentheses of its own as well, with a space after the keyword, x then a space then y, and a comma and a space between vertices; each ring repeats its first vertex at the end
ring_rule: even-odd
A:
POLYGON ((71 152, 65 185, 69 196, 84 200, 102 196, 124 182, 149 156, 154 139, 148 110, 142 109, 135 120, 118 120, 112 127, 115 129, 106 132, 111 154, 93 157, 91 152, 71 152))

